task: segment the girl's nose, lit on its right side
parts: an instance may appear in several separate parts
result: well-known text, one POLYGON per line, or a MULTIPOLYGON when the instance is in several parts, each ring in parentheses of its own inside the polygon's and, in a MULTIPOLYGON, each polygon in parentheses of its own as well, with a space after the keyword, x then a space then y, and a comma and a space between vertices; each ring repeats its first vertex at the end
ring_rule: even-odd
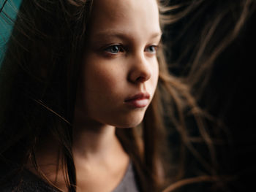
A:
POLYGON ((149 61, 143 55, 132 57, 132 68, 129 72, 129 81, 138 83, 146 82, 151 77, 149 61))

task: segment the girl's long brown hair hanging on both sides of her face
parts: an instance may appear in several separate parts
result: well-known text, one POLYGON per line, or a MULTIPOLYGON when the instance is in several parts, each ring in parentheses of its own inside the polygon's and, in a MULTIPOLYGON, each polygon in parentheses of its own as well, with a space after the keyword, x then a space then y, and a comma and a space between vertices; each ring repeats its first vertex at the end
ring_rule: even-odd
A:
MULTIPOLYGON (((39 171, 34 150, 50 135, 61 146, 69 191, 76 191, 72 118, 92 4, 92 0, 23 0, 0 71, 1 163, 14 166, 17 172, 30 160, 47 180, 39 171)), ((168 73, 164 55, 160 48, 159 85, 143 123, 116 130, 135 164, 142 191, 159 191, 165 177, 165 111, 172 113, 173 125, 184 133, 184 109, 195 106, 187 86, 168 73)), ((181 137, 187 139, 186 134, 181 137)))

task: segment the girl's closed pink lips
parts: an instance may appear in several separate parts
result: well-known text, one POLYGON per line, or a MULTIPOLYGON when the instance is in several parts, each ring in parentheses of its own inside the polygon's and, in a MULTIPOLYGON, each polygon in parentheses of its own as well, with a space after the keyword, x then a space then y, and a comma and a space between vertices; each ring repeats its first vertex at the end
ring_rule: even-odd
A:
POLYGON ((135 96, 128 97, 124 102, 132 107, 142 108, 148 105, 149 98, 148 93, 138 93, 135 96))

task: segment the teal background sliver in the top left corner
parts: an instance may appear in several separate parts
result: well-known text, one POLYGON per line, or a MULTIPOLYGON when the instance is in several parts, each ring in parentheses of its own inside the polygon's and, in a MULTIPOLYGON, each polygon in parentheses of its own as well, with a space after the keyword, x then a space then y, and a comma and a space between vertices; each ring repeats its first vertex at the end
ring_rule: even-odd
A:
MULTIPOLYGON (((22 0, 8 0, 4 5, 4 9, 0 13, 0 65, 4 58, 4 51, 6 48, 7 40, 10 37, 13 22, 15 21, 20 3, 22 0), (7 16, 10 18, 7 18, 7 16)), ((0 9, 4 4, 4 0, 0 0, 0 9)))

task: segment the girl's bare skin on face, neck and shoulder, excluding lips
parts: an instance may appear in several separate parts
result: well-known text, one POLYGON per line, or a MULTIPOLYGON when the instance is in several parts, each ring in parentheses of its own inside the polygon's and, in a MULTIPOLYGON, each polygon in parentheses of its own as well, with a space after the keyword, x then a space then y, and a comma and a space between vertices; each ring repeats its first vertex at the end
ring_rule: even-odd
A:
MULTIPOLYGON (((73 126, 77 191, 113 191, 124 177, 129 156, 115 130, 143 120, 157 87, 161 34, 157 1, 94 0, 73 126), (137 93, 149 93, 146 107, 125 102, 137 93)), ((58 147, 50 146, 38 150, 39 164, 52 164, 58 147)), ((61 170, 53 174, 56 166, 41 167, 50 181, 67 191, 61 170)))

